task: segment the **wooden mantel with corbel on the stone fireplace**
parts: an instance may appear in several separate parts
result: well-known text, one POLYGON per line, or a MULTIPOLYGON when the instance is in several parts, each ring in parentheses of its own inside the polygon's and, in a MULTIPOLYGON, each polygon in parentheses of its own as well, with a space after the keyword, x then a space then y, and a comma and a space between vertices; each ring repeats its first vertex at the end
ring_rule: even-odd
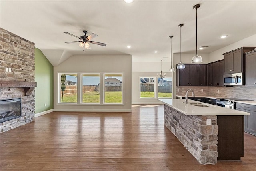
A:
POLYGON ((0 87, 24 87, 25 95, 30 95, 36 82, 0 81, 0 87))

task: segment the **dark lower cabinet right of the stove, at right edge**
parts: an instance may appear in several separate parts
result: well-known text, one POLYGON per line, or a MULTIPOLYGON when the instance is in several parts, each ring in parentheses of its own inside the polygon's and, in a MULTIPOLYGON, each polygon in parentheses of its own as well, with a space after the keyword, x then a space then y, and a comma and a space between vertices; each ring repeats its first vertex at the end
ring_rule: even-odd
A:
POLYGON ((256 135, 256 105, 236 103, 236 110, 250 113, 244 116, 244 131, 256 135))

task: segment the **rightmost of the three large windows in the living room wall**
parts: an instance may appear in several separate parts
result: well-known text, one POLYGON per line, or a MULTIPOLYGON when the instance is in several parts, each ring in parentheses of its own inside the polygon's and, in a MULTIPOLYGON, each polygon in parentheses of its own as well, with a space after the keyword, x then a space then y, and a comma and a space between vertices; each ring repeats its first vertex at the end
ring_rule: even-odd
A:
POLYGON ((104 74, 104 103, 123 103, 123 74, 104 74))

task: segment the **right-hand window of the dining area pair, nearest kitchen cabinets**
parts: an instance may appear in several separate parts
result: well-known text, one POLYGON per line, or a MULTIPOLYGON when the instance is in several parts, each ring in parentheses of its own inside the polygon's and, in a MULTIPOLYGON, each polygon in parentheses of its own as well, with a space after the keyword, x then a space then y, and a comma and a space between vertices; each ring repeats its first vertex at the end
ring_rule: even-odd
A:
POLYGON ((172 78, 158 78, 158 98, 172 97, 172 78))

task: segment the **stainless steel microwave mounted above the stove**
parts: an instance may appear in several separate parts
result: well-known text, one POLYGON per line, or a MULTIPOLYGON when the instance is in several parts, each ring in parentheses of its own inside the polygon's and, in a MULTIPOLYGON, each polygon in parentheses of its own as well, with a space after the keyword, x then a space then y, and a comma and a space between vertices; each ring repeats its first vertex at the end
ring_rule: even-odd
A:
POLYGON ((244 85, 244 73, 224 74, 224 85, 244 85))

